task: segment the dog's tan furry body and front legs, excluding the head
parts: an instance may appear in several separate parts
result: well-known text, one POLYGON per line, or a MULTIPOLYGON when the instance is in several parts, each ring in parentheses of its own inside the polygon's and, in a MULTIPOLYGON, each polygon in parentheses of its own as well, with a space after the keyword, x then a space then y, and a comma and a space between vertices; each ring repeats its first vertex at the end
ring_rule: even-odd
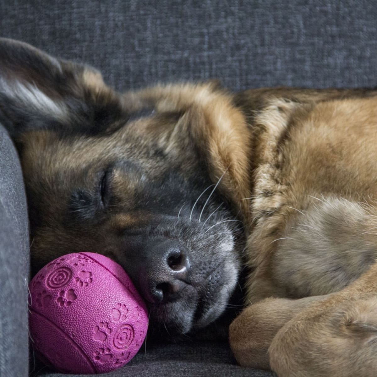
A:
POLYGON ((377 99, 281 102, 252 118, 247 302, 323 296, 249 306, 231 346, 279 376, 375 375, 377 99))

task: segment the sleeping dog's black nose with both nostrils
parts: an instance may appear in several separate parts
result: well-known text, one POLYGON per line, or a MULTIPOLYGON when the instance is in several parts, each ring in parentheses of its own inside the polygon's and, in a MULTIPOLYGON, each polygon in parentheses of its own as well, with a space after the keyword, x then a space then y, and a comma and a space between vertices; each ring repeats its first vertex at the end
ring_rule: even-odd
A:
POLYGON ((187 250, 177 241, 151 242, 145 267, 142 291, 152 303, 179 299, 181 290, 190 284, 190 259, 187 250))

